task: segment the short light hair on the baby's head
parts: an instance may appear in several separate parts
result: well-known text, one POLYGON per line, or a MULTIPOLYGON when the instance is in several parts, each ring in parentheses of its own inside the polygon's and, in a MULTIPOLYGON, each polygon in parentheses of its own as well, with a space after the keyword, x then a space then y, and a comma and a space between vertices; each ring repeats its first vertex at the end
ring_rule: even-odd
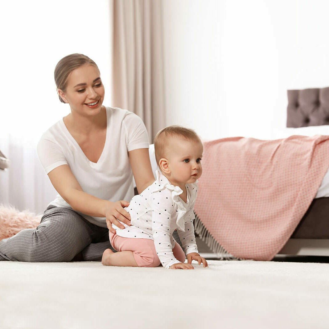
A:
POLYGON ((164 158, 165 150, 168 145, 168 137, 181 137, 187 140, 201 142, 201 139, 193 129, 181 126, 168 126, 161 129, 154 138, 155 159, 159 165, 160 159, 164 158))

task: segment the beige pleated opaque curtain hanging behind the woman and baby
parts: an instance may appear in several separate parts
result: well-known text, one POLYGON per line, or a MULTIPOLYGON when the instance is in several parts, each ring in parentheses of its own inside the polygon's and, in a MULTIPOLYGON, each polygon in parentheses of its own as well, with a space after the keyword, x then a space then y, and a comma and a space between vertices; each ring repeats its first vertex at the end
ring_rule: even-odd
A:
POLYGON ((113 1, 114 107, 139 115, 150 142, 165 126, 162 0, 113 1))

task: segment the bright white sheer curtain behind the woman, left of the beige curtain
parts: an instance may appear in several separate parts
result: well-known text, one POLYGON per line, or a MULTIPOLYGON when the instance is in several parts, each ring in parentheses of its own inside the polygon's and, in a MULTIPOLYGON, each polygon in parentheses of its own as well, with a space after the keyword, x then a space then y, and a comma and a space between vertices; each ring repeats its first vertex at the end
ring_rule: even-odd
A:
POLYGON ((42 213, 56 196, 39 163, 42 133, 69 113, 60 103, 54 68, 65 55, 93 59, 111 105, 113 3, 97 0, 7 1, 1 6, 0 150, 10 167, 0 170, 0 203, 42 213))

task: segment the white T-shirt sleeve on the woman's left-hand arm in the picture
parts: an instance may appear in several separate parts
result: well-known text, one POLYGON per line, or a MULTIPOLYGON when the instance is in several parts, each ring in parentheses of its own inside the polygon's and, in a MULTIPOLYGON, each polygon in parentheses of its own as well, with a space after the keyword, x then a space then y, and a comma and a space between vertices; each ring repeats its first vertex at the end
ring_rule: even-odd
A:
POLYGON ((44 136, 38 142, 37 152, 47 174, 56 167, 67 164, 61 146, 44 136))

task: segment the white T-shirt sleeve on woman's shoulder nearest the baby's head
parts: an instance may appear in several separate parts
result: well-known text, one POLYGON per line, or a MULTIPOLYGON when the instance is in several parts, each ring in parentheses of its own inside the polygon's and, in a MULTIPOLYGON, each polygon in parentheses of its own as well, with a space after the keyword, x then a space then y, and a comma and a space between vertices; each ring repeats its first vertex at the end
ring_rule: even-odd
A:
POLYGON ((144 122, 135 113, 128 112, 123 119, 127 134, 128 152, 138 148, 149 148, 148 134, 144 122))

